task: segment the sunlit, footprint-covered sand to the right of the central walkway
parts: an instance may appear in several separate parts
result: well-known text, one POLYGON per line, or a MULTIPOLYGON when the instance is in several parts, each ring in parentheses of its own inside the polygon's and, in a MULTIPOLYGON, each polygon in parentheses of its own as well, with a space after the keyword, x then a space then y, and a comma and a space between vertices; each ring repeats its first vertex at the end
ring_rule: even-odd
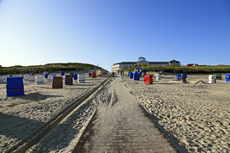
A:
POLYGON ((230 151, 230 84, 225 80, 209 84, 204 74, 188 75, 188 83, 174 81, 170 74, 150 85, 143 84, 143 77, 123 79, 163 129, 189 152, 230 151))

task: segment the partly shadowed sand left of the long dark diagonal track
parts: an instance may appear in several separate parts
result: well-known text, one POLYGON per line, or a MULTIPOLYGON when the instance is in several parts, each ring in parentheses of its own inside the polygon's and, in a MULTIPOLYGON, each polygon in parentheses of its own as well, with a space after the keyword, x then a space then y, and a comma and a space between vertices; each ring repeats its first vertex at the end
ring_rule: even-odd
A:
MULTIPOLYGON (((60 73, 56 74, 61 76, 60 73)), ((25 95, 15 97, 7 97, 6 84, 0 84, 0 152, 18 144, 108 77, 109 74, 90 78, 85 73, 85 83, 73 80, 73 85, 63 84, 63 89, 51 89, 51 82, 47 82, 47 79, 44 79, 43 85, 24 81, 25 95)))

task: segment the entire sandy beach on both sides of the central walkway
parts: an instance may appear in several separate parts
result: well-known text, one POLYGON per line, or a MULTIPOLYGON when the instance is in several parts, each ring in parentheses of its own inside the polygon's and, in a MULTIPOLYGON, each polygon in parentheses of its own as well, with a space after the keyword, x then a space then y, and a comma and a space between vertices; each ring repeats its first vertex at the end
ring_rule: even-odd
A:
MULTIPOLYGON (((18 97, 6 97, 5 84, 0 84, 0 152, 17 144, 107 77, 86 77, 86 83, 74 82, 55 90, 50 89, 48 82, 26 82, 25 96, 18 97)), ((230 151, 230 84, 225 83, 223 76, 216 84, 209 84, 206 74, 188 75, 188 83, 175 81, 174 74, 164 74, 150 85, 144 84, 143 77, 140 81, 120 75, 117 78, 188 152, 230 151)), ((108 82, 111 88, 113 81, 108 82)), ((28 152, 39 152, 41 148, 45 148, 44 152, 70 152, 98 106, 107 105, 110 90, 100 89, 53 130, 56 134, 51 132, 28 152)))

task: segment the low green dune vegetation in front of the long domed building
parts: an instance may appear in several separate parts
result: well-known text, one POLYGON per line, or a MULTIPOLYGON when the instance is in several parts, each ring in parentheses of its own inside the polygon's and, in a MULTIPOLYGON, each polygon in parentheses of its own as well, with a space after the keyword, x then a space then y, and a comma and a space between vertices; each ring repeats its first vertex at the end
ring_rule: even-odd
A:
POLYGON ((150 65, 135 65, 125 68, 124 71, 133 72, 136 67, 141 67, 144 72, 155 71, 162 73, 230 73, 230 65, 217 65, 217 66, 150 66, 150 65))

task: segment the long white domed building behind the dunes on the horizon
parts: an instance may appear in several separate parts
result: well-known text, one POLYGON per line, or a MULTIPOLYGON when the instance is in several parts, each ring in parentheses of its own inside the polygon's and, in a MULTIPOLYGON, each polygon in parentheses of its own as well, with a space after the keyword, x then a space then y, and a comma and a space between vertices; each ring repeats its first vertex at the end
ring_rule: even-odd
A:
POLYGON ((169 62, 148 62, 144 57, 139 57, 136 62, 121 62, 112 65, 112 72, 118 72, 124 70, 124 68, 134 65, 157 65, 157 66, 168 66, 168 65, 180 65, 179 61, 171 60, 169 62))

